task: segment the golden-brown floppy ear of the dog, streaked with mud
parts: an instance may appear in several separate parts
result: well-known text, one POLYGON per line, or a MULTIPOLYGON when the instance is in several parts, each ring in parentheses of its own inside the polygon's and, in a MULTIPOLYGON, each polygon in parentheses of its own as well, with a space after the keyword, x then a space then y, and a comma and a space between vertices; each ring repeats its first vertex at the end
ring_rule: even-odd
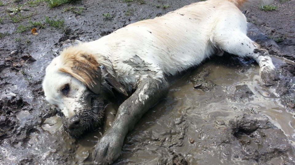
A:
POLYGON ((83 82, 93 93, 100 93, 101 70, 96 59, 88 54, 68 55, 59 69, 83 82))

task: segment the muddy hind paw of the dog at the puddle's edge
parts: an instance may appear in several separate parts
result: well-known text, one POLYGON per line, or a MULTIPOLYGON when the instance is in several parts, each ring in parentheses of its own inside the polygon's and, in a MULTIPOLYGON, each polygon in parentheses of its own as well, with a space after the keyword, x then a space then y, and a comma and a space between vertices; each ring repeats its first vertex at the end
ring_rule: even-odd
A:
POLYGON ((277 81, 279 79, 280 78, 277 75, 277 72, 275 71, 275 69, 265 68, 261 71, 261 81, 262 81, 262 85, 264 86, 273 86, 277 84, 277 81))

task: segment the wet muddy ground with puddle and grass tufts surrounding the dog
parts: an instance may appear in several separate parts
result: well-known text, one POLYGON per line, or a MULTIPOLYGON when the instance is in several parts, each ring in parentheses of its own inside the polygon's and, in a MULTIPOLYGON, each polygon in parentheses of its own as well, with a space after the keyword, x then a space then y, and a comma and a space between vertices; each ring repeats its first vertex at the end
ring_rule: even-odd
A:
MULTIPOLYGON (((102 129, 78 139, 62 131, 44 100, 46 66, 64 47, 193 2, 82 0, 49 8, 44 0, 1 0, 0 164, 91 164, 102 129)), ((127 135, 114 164, 295 164, 295 0, 273 5, 242 12, 248 36, 272 55, 277 85, 259 84, 253 60, 212 57, 173 82, 127 135)))

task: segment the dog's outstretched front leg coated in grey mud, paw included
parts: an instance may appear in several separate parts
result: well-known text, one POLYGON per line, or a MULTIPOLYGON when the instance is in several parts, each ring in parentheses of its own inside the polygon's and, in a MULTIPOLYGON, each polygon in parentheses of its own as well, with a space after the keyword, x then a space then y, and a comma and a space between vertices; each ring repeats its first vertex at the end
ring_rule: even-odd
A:
POLYGON ((112 127, 96 144, 93 153, 94 164, 106 165, 116 160, 128 131, 133 129, 135 123, 151 106, 166 97, 168 91, 169 84, 165 78, 143 79, 131 97, 120 105, 112 127))

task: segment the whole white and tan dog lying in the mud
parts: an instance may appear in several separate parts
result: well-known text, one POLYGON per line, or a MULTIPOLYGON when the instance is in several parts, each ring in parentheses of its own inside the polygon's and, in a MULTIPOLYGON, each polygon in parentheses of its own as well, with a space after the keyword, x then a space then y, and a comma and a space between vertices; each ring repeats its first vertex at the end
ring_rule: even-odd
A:
POLYGON ((106 94, 126 96, 93 153, 94 164, 110 164, 120 155, 128 131, 167 95, 167 76, 226 51, 255 59, 262 84, 275 83, 278 76, 267 50, 246 36, 246 17, 240 10, 253 1, 193 3, 96 41, 71 46, 46 68, 46 100, 63 114, 65 131, 77 137, 101 123, 106 94))

